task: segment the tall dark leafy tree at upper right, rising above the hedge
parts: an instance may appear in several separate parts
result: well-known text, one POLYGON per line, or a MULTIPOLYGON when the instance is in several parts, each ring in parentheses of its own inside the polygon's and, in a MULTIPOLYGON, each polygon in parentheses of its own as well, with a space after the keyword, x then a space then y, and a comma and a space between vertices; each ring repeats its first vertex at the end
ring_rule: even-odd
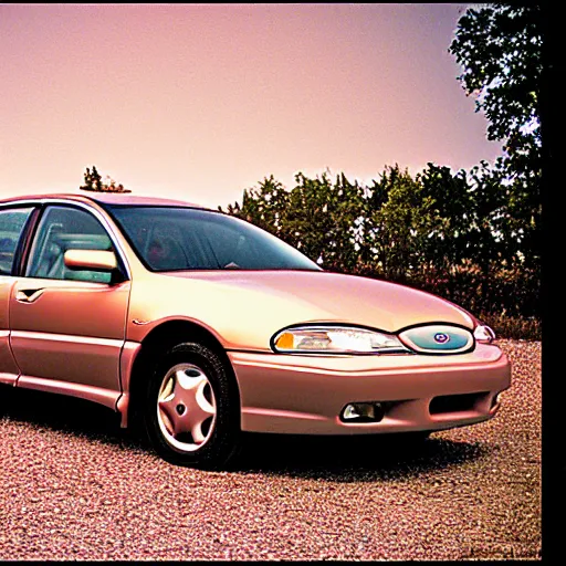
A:
POLYGON ((499 184, 503 191, 499 231, 509 250, 516 250, 526 266, 537 269, 542 248, 541 7, 469 8, 449 51, 463 67, 459 80, 464 91, 475 96, 476 111, 490 120, 488 139, 503 142, 505 154, 493 170, 482 166, 483 181, 499 184))

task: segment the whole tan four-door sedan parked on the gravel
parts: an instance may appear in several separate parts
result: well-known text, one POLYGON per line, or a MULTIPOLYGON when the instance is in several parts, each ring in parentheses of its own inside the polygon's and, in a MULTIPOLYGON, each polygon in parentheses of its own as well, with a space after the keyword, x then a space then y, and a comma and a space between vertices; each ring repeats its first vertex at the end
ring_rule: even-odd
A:
POLYGON ((459 306, 325 272, 237 218, 52 195, 0 201, 0 384, 102 403, 166 460, 220 468, 242 431, 484 421, 511 369, 459 306))

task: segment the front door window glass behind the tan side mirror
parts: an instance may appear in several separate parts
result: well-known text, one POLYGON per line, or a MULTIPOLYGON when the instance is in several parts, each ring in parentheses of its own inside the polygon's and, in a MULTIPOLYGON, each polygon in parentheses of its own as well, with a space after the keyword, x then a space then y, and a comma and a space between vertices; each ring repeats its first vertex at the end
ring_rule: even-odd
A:
POLYGON ((112 250, 112 241, 101 222, 90 212, 72 207, 49 207, 43 213, 25 275, 109 283, 112 274, 99 271, 70 270, 67 250, 112 250))

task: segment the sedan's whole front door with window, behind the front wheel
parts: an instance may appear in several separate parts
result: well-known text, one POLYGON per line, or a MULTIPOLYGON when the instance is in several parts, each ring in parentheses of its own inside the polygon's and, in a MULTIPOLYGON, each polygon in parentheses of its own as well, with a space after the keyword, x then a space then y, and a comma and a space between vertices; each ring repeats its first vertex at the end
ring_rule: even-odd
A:
POLYGON ((70 249, 116 252, 98 212, 73 205, 46 206, 24 272, 10 295, 10 344, 21 371, 18 386, 112 407, 120 392, 130 282, 124 277, 115 283, 109 273, 70 270, 64 264, 70 249))

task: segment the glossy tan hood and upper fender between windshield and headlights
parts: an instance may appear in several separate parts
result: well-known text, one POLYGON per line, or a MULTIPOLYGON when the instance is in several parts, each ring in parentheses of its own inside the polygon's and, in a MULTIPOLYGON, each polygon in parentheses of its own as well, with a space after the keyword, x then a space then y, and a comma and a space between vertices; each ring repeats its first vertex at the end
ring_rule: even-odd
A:
POLYGON ((305 323, 345 323, 389 333, 426 323, 470 329, 474 324, 465 311, 440 297, 355 275, 226 270, 153 275, 159 279, 163 297, 151 302, 161 305, 154 308, 155 321, 175 314, 191 318, 228 348, 269 349, 273 334, 305 323))

